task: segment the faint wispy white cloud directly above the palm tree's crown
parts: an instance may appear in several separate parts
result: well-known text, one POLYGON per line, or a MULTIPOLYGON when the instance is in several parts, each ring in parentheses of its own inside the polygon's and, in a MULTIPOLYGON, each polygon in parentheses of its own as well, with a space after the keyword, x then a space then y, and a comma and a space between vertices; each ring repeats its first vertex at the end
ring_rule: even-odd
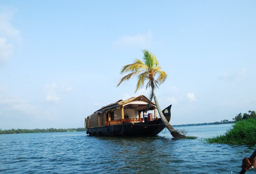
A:
POLYGON ((152 41, 152 32, 148 31, 145 34, 138 34, 134 36, 126 35, 122 38, 114 41, 115 46, 127 47, 127 46, 140 46, 140 47, 148 47, 150 46, 152 41))

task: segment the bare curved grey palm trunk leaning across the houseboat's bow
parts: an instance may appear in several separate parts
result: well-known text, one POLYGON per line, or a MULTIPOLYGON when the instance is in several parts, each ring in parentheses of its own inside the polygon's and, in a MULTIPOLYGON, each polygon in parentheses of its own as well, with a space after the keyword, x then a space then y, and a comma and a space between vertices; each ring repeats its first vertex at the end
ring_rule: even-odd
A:
POLYGON ((162 121, 164 122, 164 125, 166 126, 166 128, 170 131, 171 135, 174 138, 185 138, 185 135, 180 134, 178 131, 176 131, 176 129, 174 129, 172 127, 172 125, 170 125, 170 123, 167 121, 167 119, 164 117, 164 114, 162 113, 162 109, 160 108, 160 105, 157 101, 157 97, 155 96, 155 90, 152 89, 152 93, 153 93, 153 97, 154 97, 154 101, 155 101, 155 105, 157 107, 157 111, 159 113, 160 118, 162 119, 162 121))

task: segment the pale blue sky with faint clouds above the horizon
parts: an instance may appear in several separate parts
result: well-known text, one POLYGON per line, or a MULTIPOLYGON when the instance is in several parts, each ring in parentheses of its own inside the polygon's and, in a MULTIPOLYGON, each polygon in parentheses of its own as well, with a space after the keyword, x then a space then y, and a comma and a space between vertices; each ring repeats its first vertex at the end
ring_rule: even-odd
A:
POLYGON ((170 124, 256 110, 256 1, 0 2, 0 128, 78 128, 134 94, 123 65, 156 55, 170 124))

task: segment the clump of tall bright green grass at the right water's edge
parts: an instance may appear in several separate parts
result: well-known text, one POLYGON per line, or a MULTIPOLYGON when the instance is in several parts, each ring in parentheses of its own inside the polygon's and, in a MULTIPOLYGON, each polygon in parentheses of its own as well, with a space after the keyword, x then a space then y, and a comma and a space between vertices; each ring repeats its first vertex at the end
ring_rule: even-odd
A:
POLYGON ((256 119, 237 121, 224 135, 206 138, 207 143, 223 144, 255 144, 256 143, 256 119))

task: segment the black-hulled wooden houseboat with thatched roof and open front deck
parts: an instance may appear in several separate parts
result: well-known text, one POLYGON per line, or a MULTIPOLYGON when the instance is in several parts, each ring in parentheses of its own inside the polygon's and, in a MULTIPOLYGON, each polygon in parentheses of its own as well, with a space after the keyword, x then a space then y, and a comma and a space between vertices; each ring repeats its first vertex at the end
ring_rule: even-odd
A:
MULTIPOLYGON (((168 122, 171 106, 162 111, 168 122)), ((84 124, 89 136, 156 136, 165 128, 155 103, 144 95, 103 106, 86 117, 84 124)))

